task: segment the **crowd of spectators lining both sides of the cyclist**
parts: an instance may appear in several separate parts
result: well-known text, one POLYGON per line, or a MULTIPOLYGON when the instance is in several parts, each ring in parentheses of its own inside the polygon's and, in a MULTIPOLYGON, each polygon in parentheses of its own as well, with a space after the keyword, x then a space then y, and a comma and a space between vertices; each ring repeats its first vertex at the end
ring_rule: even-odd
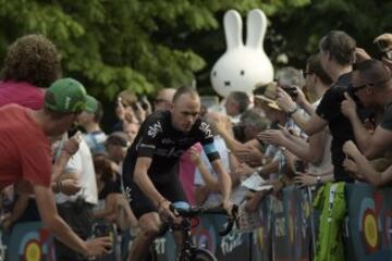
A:
MULTIPOLYGON (((376 41, 392 49, 390 34, 376 41)), ((371 59, 340 30, 328 33, 319 49, 302 70, 278 70, 274 82, 255 86, 252 96, 233 91, 219 110, 201 110, 232 179, 231 201, 243 211, 256 211, 266 195, 290 185, 392 181, 392 62, 371 59)), ((86 241, 94 222, 137 229, 123 162, 140 124, 170 111, 176 89, 161 89, 149 101, 131 86, 112 109, 62 78, 60 64, 40 35, 21 37, 8 50, 0 82, 2 225, 12 231, 42 220, 58 238, 58 260, 85 260, 110 248, 107 237, 86 241), (102 128, 108 110, 117 123, 102 128)), ((177 167, 191 203, 221 203, 217 173, 199 144, 177 167)))

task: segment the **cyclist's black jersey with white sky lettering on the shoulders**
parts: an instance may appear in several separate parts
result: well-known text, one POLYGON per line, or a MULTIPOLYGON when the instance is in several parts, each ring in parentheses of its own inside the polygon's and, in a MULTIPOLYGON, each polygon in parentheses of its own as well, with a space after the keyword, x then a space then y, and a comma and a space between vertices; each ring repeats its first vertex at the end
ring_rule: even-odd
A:
POLYGON ((208 123, 196 120, 188 133, 175 129, 170 111, 158 111, 142 124, 137 136, 128 149, 123 166, 124 185, 132 182, 138 157, 152 158, 148 175, 152 183, 170 182, 177 174, 181 154, 196 142, 200 142, 212 162, 219 159, 213 145, 213 135, 208 123))

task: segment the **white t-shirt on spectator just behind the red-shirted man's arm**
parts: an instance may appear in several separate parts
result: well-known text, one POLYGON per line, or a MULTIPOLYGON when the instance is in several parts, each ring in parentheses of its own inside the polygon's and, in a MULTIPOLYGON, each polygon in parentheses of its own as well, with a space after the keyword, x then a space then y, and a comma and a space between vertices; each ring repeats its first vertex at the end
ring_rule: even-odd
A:
POLYGON ((65 173, 78 173, 81 175, 79 183, 82 189, 72 196, 66 196, 62 192, 56 195, 57 203, 64 203, 68 201, 75 201, 82 197, 86 202, 91 204, 98 203, 98 189, 95 176, 94 163, 91 152, 84 139, 79 144, 79 149, 70 159, 65 166, 65 173))

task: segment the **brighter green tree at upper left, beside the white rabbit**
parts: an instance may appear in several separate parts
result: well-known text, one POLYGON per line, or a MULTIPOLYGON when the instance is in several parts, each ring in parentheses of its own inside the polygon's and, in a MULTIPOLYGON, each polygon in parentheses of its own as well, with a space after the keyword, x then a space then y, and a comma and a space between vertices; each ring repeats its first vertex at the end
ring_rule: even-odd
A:
POLYGON ((40 33, 59 47, 64 74, 82 79, 94 95, 112 99, 125 88, 149 94, 188 84, 206 67, 195 35, 206 39, 218 29, 225 10, 262 7, 274 13, 303 2, 0 0, 0 55, 16 37, 40 33))

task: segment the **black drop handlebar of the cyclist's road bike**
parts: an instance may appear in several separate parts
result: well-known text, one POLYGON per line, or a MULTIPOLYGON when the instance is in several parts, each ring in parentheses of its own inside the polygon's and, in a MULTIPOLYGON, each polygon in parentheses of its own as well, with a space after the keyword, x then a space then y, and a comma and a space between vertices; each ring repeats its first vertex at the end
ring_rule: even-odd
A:
POLYGON ((219 232, 220 236, 228 235, 235 225, 238 227, 238 206, 233 204, 231 215, 228 214, 228 211, 221 207, 219 208, 204 208, 204 207, 191 207, 191 206, 180 206, 180 208, 175 207, 175 203, 170 204, 170 209, 174 212, 175 215, 182 216, 182 217, 196 217, 200 214, 221 214, 228 216, 228 225, 223 231, 219 232))

